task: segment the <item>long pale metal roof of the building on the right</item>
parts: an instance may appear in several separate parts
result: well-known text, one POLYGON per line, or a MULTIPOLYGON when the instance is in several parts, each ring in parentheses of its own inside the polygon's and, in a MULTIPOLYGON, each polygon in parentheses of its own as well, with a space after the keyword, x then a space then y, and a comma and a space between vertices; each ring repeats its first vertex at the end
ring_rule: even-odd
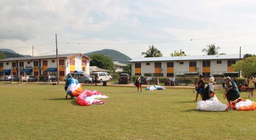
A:
MULTIPOLYGON (((244 54, 241 54, 243 58, 244 54)), ((194 55, 194 56, 168 56, 168 57, 144 57, 135 58, 129 62, 147 62, 147 61, 181 61, 181 60, 218 60, 218 59, 239 59, 239 54, 225 55, 194 55)))

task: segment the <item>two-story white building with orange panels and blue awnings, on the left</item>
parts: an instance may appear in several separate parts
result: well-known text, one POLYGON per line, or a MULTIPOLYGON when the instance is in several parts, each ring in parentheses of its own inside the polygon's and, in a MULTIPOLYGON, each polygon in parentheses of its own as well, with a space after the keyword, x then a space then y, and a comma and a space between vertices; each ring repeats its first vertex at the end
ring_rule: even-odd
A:
POLYGON ((58 72, 65 76, 75 71, 90 74, 91 58, 82 53, 16 57, 0 60, 0 75, 50 75, 58 72))

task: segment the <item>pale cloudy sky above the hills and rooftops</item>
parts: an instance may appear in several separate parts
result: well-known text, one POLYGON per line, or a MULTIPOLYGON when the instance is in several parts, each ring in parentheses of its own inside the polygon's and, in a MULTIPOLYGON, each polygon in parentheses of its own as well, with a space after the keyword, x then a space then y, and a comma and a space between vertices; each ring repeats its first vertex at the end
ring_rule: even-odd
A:
POLYGON ((55 34, 60 54, 256 54, 255 0, 0 0, 0 17, 0 49, 26 55, 56 54, 55 34))

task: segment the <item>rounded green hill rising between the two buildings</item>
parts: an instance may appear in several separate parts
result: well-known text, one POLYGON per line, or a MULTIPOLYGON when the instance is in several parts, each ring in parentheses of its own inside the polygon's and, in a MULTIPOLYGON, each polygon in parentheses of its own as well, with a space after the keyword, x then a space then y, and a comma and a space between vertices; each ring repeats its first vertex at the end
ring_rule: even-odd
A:
POLYGON ((110 58, 112 58, 113 61, 117 61, 120 63, 125 63, 128 64, 128 62, 131 60, 131 58, 129 56, 127 56, 124 53, 120 53, 116 50, 110 50, 110 49, 104 49, 101 51, 94 51, 94 52, 90 52, 90 53, 84 53, 85 55, 91 55, 91 54, 104 54, 109 56, 110 58))

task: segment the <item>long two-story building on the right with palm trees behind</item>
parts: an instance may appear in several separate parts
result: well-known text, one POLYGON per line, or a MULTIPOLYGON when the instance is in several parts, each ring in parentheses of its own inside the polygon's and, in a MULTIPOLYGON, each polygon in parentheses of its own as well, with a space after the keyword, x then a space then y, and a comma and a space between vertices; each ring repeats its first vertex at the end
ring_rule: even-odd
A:
MULTIPOLYGON (((243 58, 243 55, 241 55, 243 58)), ((238 76, 231 65, 240 59, 235 55, 200 55, 200 56, 169 56, 136 58, 131 64, 132 75, 153 77, 193 77, 202 74, 203 77, 238 76)))

